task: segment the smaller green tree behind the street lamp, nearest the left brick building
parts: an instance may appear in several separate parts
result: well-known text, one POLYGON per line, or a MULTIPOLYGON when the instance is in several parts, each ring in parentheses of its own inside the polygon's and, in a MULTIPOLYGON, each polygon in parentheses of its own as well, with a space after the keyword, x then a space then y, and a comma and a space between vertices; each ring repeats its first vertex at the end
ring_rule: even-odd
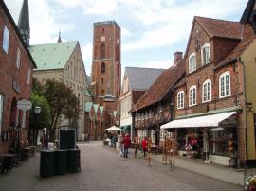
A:
POLYGON ((33 145, 36 145, 38 130, 42 130, 49 126, 50 107, 45 96, 39 96, 34 92, 31 94, 31 102, 32 110, 30 110, 29 114, 29 127, 33 134, 33 145), (40 107, 41 112, 35 113, 35 107, 40 107))

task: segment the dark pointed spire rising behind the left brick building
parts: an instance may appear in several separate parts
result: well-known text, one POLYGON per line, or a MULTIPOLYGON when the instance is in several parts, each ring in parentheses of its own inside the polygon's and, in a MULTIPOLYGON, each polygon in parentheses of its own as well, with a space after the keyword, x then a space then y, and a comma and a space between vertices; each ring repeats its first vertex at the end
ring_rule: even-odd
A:
POLYGON ((30 27, 29 27, 28 0, 23 1, 20 17, 18 21, 18 28, 24 43, 26 43, 27 47, 29 47, 30 27))

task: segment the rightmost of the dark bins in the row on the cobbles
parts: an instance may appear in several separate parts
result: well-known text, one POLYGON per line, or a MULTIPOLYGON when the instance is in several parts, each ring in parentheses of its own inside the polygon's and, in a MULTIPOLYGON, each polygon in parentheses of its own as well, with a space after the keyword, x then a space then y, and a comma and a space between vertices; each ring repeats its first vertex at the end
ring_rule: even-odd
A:
POLYGON ((80 150, 71 149, 67 152, 67 171, 69 173, 78 172, 80 169, 80 150))

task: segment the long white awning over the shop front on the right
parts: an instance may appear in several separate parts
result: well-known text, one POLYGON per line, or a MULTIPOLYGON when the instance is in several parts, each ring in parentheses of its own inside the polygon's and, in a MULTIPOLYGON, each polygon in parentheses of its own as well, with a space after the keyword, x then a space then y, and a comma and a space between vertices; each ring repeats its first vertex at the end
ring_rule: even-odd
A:
POLYGON ((186 119, 177 119, 161 126, 161 129, 171 128, 201 128, 218 127, 219 124, 236 112, 209 114, 186 119))

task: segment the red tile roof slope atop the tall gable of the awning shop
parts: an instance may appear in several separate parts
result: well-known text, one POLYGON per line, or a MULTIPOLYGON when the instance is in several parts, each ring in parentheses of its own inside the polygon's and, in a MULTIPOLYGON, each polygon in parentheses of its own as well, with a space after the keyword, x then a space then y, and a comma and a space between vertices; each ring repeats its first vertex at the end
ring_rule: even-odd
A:
POLYGON ((224 21, 195 16, 194 19, 212 37, 240 39, 242 27, 239 22, 224 21))

